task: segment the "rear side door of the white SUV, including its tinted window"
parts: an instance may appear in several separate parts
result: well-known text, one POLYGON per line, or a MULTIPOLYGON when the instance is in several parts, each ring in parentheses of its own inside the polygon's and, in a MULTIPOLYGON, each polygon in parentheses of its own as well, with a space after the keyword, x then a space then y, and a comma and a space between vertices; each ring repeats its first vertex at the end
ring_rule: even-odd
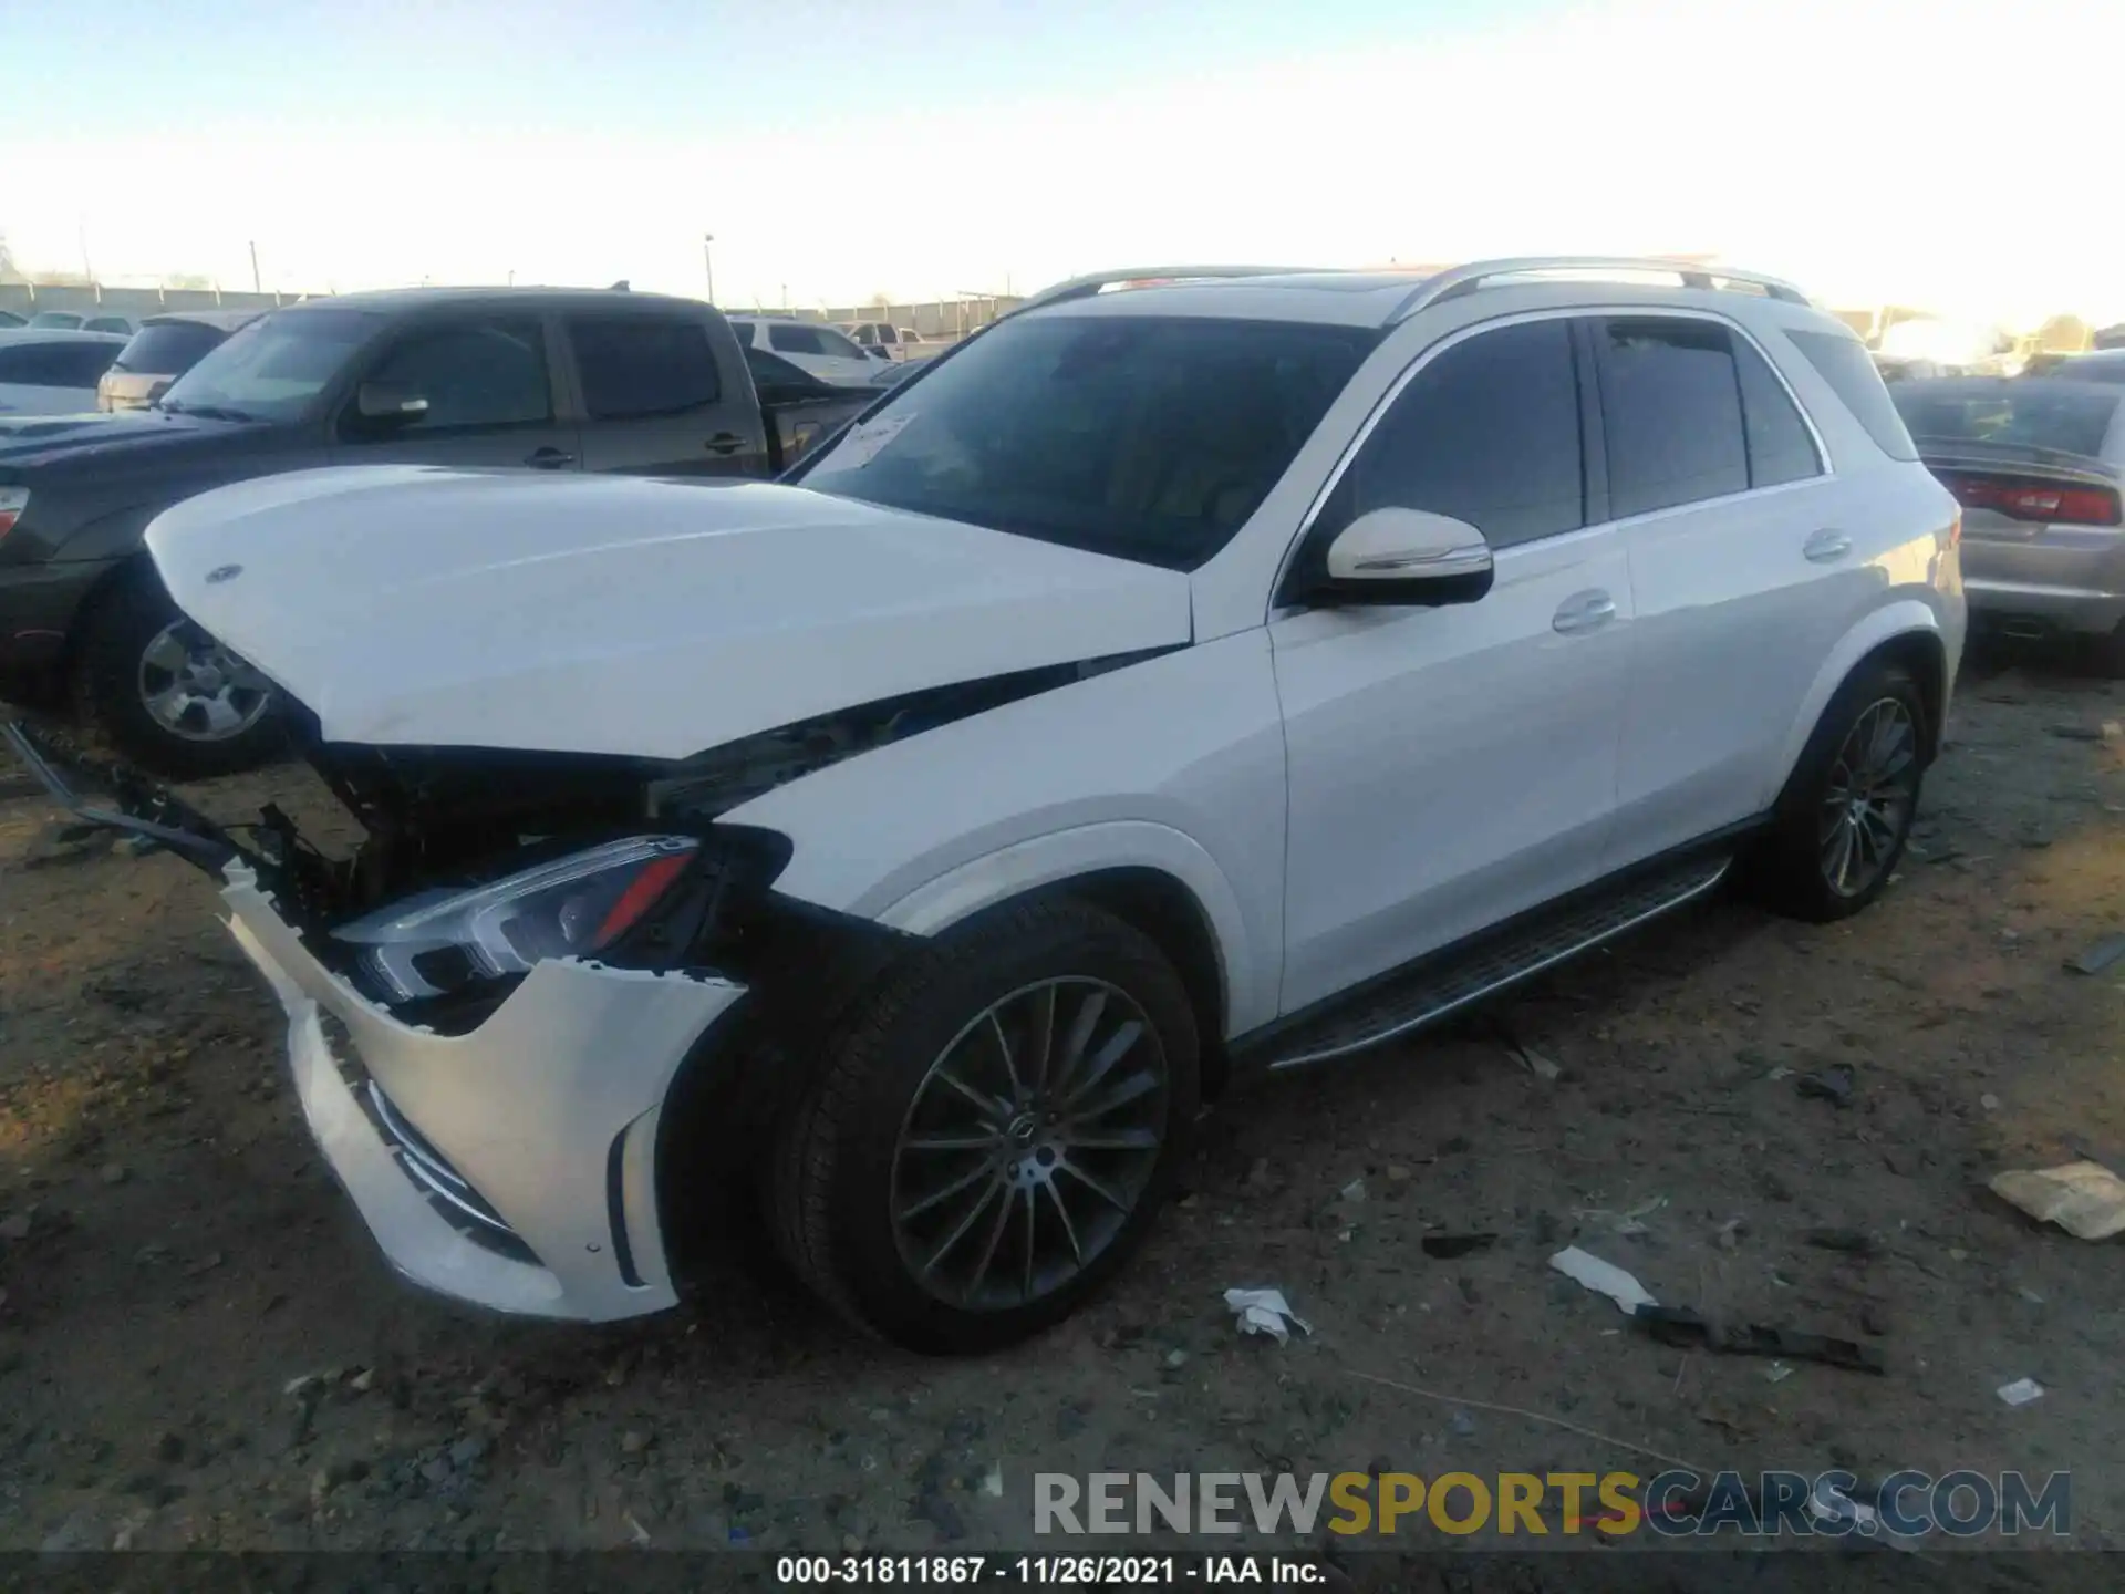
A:
POLYGON ((1638 606, 1615 863, 1753 818, 1802 699, 1876 576, 1785 378, 1713 317, 1587 323, 1609 502, 1638 606))

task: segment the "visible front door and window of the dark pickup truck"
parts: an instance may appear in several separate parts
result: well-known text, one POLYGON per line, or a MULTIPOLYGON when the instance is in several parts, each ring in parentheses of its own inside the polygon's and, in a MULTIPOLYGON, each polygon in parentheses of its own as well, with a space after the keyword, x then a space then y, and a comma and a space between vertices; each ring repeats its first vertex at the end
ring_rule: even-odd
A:
POLYGON ((576 470, 580 444, 559 404, 548 332, 536 312, 468 310, 387 336, 334 423, 342 461, 576 470), (366 385, 427 408, 391 421, 363 417, 366 385))

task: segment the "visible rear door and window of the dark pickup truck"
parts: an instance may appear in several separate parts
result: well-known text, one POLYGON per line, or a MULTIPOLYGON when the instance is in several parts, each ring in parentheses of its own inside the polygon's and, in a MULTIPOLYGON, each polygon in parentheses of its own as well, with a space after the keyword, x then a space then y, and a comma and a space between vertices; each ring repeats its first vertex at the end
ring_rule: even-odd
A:
POLYGON ((582 406, 582 468, 765 476, 767 438, 735 344, 693 315, 563 317, 582 406))

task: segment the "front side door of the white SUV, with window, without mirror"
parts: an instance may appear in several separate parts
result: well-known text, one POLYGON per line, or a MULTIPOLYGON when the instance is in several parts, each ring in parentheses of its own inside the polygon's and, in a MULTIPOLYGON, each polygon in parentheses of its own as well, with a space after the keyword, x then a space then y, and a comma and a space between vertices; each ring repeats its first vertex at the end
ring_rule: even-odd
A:
POLYGON ((1594 880, 1630 650, 1617 533, 1590 525, 1572 327, 1477 327, 1420 361, 1309 536, 1405 506, 1490 540, 1447 608, 1271 623, 1284 701, 1284 1012, 1594 880))

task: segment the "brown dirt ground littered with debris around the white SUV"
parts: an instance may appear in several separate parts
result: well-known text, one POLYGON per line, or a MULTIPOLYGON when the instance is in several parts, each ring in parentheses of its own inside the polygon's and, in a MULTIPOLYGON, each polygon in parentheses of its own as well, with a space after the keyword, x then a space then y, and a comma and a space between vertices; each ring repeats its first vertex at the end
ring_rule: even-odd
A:
POLYGON ((1252 1088, 1109 1296, 967 1362, 861 1343, 742 1269, 599 1330, 400 1284, 206 882, 55 844, 0 769, 0 1549, 1022 1547, 1035 1471, 1660 1471, 1647 1452, 2072 1469, 2074 1541, 2116 1545, 2125 1271, 1983 1188, 2125 1167, 2125 963, 2063 967, 2125 927, 2112 716, 2100 680, 1976 661, 1872 912, 1719 901, 1456 1033, 1252 1088), (1849 1105, 1796 1088, 1840 1063, 1849 1105), (1434 1231, 1498 1241, 1439 1260, 1434 1231), (1570 1241, 1889 1371, 1658 1345, 1547 1271, 1570 1241), (1254 1284, 1313 1337, 1241 1339, 1222 1290, 1254 1284), (2048 1394, 2010 1409, 2019 1377, 2048 1394))

